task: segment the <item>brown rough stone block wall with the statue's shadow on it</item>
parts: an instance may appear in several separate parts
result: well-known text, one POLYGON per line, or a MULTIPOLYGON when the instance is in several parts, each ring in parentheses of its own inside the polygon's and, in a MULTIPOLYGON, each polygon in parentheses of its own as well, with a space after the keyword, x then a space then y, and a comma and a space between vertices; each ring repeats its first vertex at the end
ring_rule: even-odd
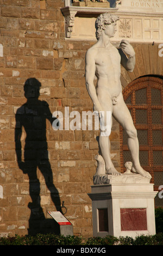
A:
MULTIPOLYGON (((0 235, 55 231, 47 212, 64 201, 74 234, 91 236, 99 131, 54 131, 52 113, 92 111, 84 69, 94 42, 65 40, 62 0, 0 4, 0 235)), ((115 121, 110 137, 120 170, 115 121)))

